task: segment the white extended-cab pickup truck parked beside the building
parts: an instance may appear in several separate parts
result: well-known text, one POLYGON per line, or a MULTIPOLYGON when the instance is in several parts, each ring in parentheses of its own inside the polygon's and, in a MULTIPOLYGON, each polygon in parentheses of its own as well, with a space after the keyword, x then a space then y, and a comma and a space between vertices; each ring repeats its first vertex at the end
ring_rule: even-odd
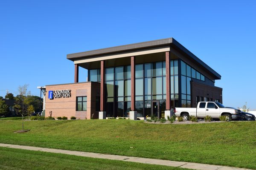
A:
POLYGON ((211 116, 212 118, 220 118, 227 116, 227 120, 241 119, 241 111, 235 108, 225 108, 219 102, 198 102, 197 108, 175 108, 175 116, 182 116, 183 120, 189 120, 189 116, 204 118, 211 116))

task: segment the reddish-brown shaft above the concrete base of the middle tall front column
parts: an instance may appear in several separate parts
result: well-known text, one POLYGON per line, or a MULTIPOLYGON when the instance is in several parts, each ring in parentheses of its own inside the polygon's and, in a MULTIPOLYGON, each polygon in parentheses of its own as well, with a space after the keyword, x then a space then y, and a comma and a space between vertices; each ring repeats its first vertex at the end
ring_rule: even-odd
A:
POLYGON ((135 57, 131 57, 131 111, 135 110, 135 57))

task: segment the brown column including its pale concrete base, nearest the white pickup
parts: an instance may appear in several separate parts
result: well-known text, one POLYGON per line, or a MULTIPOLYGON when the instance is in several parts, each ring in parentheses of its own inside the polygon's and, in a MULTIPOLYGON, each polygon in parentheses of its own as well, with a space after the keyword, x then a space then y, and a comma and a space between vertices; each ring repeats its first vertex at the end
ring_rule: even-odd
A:
POLYGON ((166 111, 164 111, 165 119, 173 115, 170 111, 171 96, 170 96, 170 52, 166 51, 166 111))

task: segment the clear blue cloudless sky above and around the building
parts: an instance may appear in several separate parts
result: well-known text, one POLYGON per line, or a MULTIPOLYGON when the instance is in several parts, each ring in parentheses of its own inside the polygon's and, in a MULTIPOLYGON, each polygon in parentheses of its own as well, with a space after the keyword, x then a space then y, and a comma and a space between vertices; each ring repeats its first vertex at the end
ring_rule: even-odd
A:
POLYGON ((67 54, 169 37, 221 75, 224 105, 256 109, 255 0, 0 0, 0 96, 74 82, 67 54))

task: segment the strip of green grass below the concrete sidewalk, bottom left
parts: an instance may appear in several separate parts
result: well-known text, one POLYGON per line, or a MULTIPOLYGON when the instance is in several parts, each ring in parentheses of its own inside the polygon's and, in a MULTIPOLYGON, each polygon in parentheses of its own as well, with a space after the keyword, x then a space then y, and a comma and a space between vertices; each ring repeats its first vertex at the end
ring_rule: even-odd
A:
MULTIPOLYGON (((2 170, 184 170, 152 164, 0 147, 2 170)), ((185 169, 186 170, 186 169, 185 169)))

